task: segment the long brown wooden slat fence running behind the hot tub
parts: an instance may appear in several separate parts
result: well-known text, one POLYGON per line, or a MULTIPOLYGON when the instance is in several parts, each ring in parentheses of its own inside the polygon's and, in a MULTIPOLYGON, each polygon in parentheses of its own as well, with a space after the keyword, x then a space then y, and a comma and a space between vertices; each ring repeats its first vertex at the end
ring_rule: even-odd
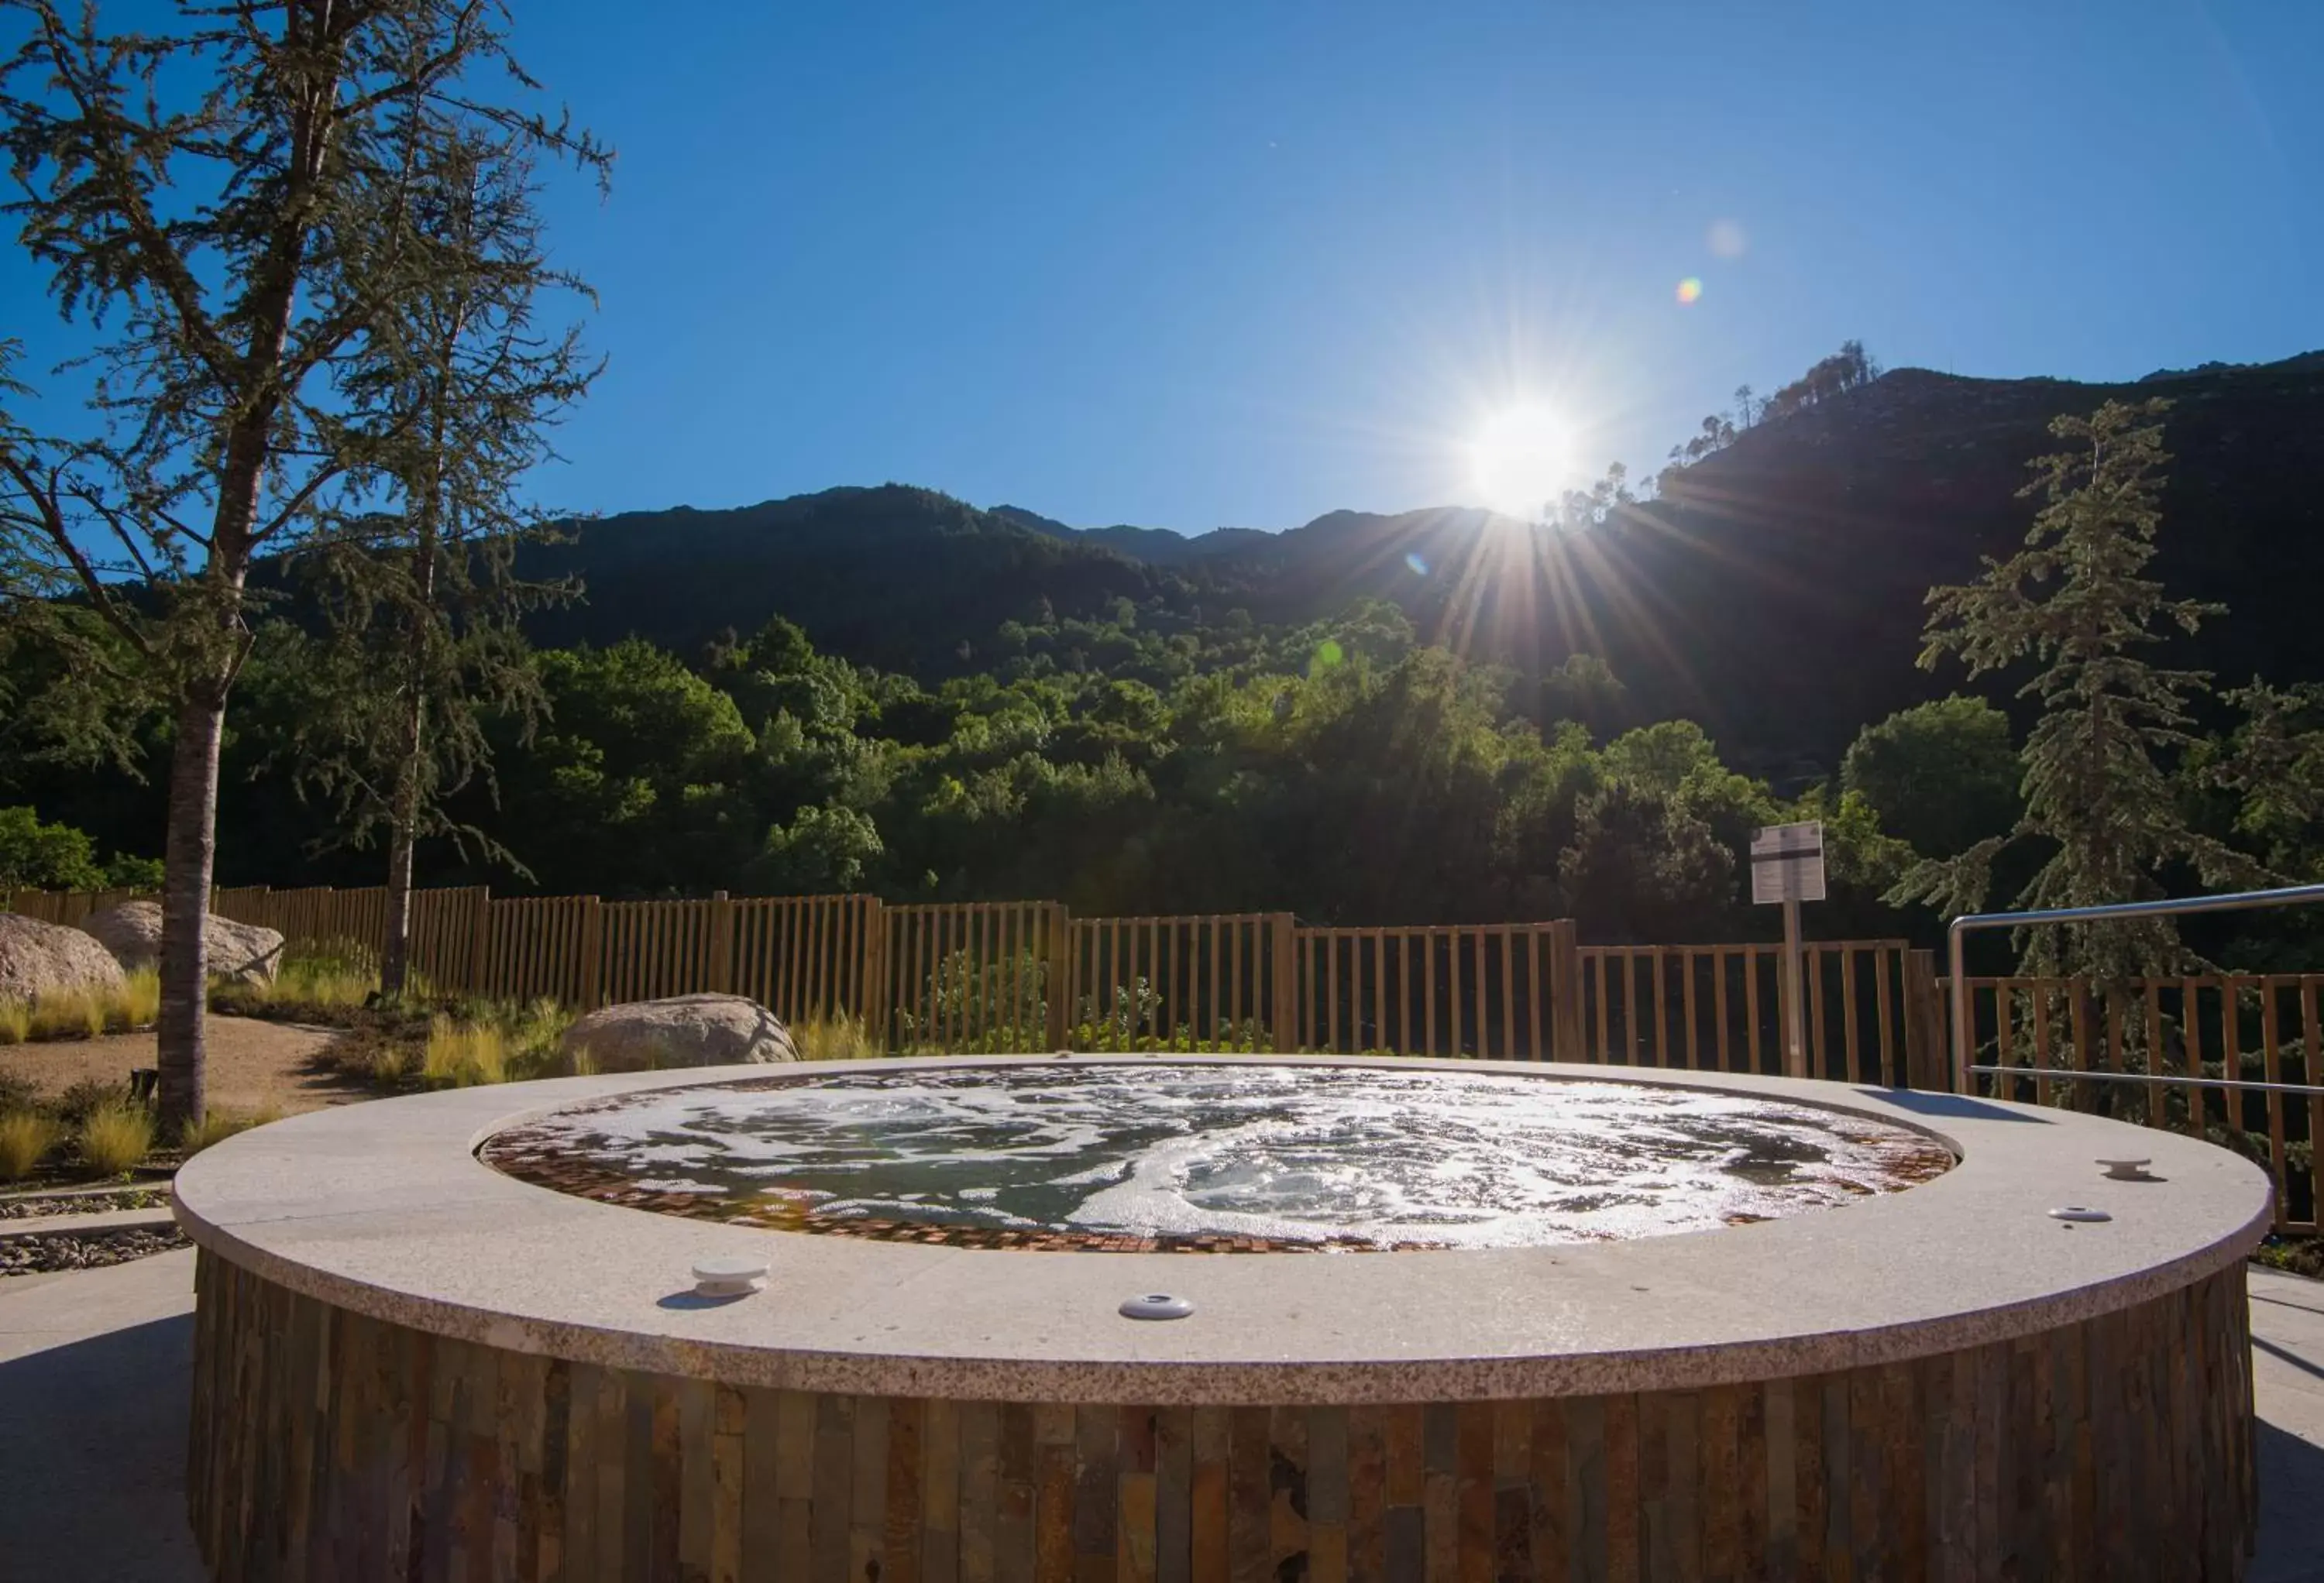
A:
MULTIPOLYGON (((19 893, 77 923, 125 893, 19 893)), ((376 951, 386 893, 218 890, 218 914, 293 944, 376 951)), ((888 907, 869 895, 602 902, 418 890, 414 967, 437 990, 600 1007, 751 995, 786 1023, 862 1018, 892 1051, 1276 1048, 1783 1072, 1778 946, 1583 946, 1573 925, 1301 927, 1290 914, 1071 918, 1057 902, 888 907)), ((1936 958, 1813 941, 1813 1076, 1950 1090, 1936 958)), ((2319 1218, 2324 974, 1973 979, 1982 1093, 2075 1104, 2250 1153, 2282 1230, 2319 1218), (2033 1074, 2045 1069, 2050 1076, 2033 1074), (2115 1072, 2101 1083, 2059 1072, 2115 1072)))

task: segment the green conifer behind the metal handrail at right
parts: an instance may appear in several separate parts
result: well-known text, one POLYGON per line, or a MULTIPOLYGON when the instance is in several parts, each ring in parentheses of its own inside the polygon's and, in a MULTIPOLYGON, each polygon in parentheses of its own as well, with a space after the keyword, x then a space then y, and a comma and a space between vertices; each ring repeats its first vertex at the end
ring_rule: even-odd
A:
MULTIPOLYGON (((2094 907, 2164 895, 2161 872, 2185 865, 2203 883, 2243 879, 2247 858, 2187 825, 2166 762, 2194 744, 2189 704, 2203 672, 2143 658, 2168 628, 2194 632, 2219 604, 2166 600, 2145 576, 2161 528, 2166 400, 2108 402, 2050 432, 2071 449, 2031 463, 2020 495, 2045 504, 2024 549, 1985 563, 1985 576, 1929 590, 1920 662, 1952 653, 1971 676, 2022 660, 2040 669, 2020 697, 2040 702, 2024 746, 2024 814, 2001 837, 1954 858, 1915 865, 1889 902, 1934 902, 1945 916, 1978 911, 1994 858, 2017 841, 2050 851, 2017 895, 2022 909, 2094 907)), ((2185 965, 2171 918, 2020 930, 2027 974, 2096 974, 2119 981, 2185 965)))

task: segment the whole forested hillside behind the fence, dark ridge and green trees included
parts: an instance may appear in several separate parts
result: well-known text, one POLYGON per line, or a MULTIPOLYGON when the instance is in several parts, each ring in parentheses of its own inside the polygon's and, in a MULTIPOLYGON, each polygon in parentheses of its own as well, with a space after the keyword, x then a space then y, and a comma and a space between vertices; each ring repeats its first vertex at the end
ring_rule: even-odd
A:
MULTIPOLYGON (((2324 463, 2319 360, 2131 393, 2175 402, 2161 579, 2226 604, 2154 658, 2222 686, 2324 674, 2298 607, 2324 570, 2301 484, 2324 463)), ((1601 941, 1734 939, 1771 923, 1741 900, 1748 832, 1824 818, 1817 932, 1927 939, 1934 909, 1880 897, 2013 828, 2027 716, 1989 702, 2022 709, 2015 674, 1915 667, 1924 597, 2024 537, 2047 418, 2103 393, 1859 363, 1787 395, 1708 418, 1648 488, 1613 474, 1543 525, 1441 509, 1083 535, 902 486, 581 523, 523 553, 588 600, 532 618, 541 711, 493 718, 493 774, 449 797, 465 835, 423 841, 421 883, 1576 916, 1601 941), (514 862, 486 862, 490 844, 514 862)), ((309 642, 260 628, 237 683, 221 883, 376 881, 376 851, 349 848, 300 781, 309 642)), ((19 651, 19 697, 42 665, 19 651)), ((2294 795, 2324 751, 2319 697, 2203 700, 2166 765, 2185 816, 2268 872, 2324 872, 2312 795, 2294 795), (2266 776, 2215 772, 2252 744, 2266 776)), ((139 730, 144 781, 16 723, 0 807, 93 848, 0 830, 0 869, 35 853, 16 879, 46 883, 37 853, 79 851, 81 876, 151 855, 167 732, 139 730)), ((2003 860, 1994 900, 2038 858, 2003 860)))

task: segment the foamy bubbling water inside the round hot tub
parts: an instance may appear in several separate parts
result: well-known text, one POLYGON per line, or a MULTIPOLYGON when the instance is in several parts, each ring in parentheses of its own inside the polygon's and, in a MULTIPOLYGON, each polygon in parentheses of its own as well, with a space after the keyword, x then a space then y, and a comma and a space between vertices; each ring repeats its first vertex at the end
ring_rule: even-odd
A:
POLYGON ((1462 1248, 1766 1220, 1952 1165, 1906 1127, 1697 1088, 1150 1060, 646 1090, 486 1153, 802 1230, 1462 1248))

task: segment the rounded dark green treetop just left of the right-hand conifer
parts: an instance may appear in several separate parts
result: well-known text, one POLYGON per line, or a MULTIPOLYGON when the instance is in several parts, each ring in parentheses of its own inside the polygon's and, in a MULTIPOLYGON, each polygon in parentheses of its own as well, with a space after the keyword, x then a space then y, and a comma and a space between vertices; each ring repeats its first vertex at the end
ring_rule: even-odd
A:
POLYGON ((1866 725, 1841 760, 1841 788, 1862 795, 1880 828, 1924 858, 1950 858, 2008 835, 2024 765, 2010 721, 1954 693, 1866 725))

